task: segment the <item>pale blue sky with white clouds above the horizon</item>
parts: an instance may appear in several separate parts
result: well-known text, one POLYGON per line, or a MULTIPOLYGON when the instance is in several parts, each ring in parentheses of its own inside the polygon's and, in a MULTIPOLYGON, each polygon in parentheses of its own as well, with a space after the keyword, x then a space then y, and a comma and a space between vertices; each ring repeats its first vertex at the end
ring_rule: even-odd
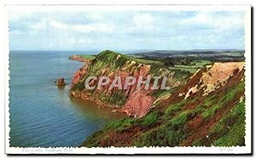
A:
POLYGON ((11 50, 244 49, 242 11, 9 11, 11 50))

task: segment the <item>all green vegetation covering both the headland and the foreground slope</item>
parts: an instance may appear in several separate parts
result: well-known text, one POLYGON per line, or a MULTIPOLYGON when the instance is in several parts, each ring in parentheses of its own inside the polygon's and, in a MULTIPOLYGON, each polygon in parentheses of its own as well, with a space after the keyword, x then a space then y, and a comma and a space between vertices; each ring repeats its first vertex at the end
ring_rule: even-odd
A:
MULTIPOLYGON (((225 53, 224 56, 230 55, 225 53)), ((150 65, 153 76, 170 76, 172 82, 183 84, 170 90, 155 90, 151 95, 157 102, 142 118, 125 117, 109 122, 102 130, 92 134, 83 146, 234 146, 245 145, 244 75, 237 71, 222 87, 210 94, 204 88, 189 98, 184 98, 191 83, 201 84, 199 77, 189 78, 200 68, 212 65, 212 60, 169 58, 167 60, 145 56, 128 56, 113 51, 103 51, 94 56, 91 66, 73 90, 83 89, 87 76, 111 75, 113 71, 134 72, 138 65, 150 65), (185 90, 185 91, 184 91, 185 90), (167 97, 167 98, 166 98, 167 97), (165 100, 165 102, 163 102, 165 100)), ((240 57, 237 55, 237 57, 240 57)), ((236 59, 236 58, 235 58, 236 59)), ((125 105, 123 91, 99 94, 103 102, 125 105)))

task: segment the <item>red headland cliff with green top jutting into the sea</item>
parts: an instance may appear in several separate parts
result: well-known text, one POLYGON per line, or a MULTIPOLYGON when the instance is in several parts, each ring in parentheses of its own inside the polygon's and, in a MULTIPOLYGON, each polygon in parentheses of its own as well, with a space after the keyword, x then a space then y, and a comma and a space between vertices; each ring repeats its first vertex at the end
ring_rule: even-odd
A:
MULTIPOLYGON (((96 59, 87 61, 87 63, 76 71, 73 76, 72 88, 70 96, 79 99, 89 99, 95 101, 98 105, 112 106, 119 108, 117 111, 125 112, 127 116, 137 118, 143 117, 154 106, 154 101, 161 96, 163 91, 160 90, 145 90, 145 84, 137 89, 139 77, 146 79, 147 76, 166 76, 166 84, 171 88, 177 88, 179 85, 186 82, 189 78, 188 72, 184 76, 179 76, 175 71, 169 71, 162 67, 153 67, 152 65, 137 62, 123 54, 104 51, 96 56, 96 59), (86 90, 84 89, 84 81, 86 77, 109 77, 110 81, 107 85, 100 89, 86 90), (127 89, 113 88, 108 89, 115 77, 121 78, 122 88, 125 86, 126 77, 135 77, 136 83, 128 86, 127 89)), ((90 85, 97 85, 97 80, 91 80, 90 85)), ((153 83, 150 82, 150 86, 153 83)), ((168 90, 170 91, 170 90, 168 90)))

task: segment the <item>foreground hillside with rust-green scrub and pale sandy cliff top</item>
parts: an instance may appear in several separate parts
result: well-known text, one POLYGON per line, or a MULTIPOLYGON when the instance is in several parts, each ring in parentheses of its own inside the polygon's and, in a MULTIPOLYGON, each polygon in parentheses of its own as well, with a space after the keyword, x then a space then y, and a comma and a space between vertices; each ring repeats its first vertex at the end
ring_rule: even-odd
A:
MULTIPOLYGON (((145 116, 110 122, 83 146, 245 145, 244 66, 244 62, 225 62, 203 67, 175 91, 159 95, 145 116)), ((126 105, 137 111, 140 107, 133 98, 126 105)))

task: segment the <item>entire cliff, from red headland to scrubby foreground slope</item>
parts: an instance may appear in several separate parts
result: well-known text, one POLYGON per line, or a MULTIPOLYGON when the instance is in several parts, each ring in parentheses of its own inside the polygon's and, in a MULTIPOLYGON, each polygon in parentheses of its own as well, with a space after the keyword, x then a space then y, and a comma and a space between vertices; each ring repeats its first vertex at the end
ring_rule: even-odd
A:
MULTIPOLYGON (((114 106, 128 116, 108 123, 82 146, 236 146, 245 145, 244 62, 215 62, 196 71, 173 69, 103 51, 84 65, 70 94, 114 106), (168 77, 170 90, 85 90, 89 76, 168 77)), ((190 67, 190 66, 189 66, 190 67)), ((93 83, 93 82, 92 82, 93 83)))

